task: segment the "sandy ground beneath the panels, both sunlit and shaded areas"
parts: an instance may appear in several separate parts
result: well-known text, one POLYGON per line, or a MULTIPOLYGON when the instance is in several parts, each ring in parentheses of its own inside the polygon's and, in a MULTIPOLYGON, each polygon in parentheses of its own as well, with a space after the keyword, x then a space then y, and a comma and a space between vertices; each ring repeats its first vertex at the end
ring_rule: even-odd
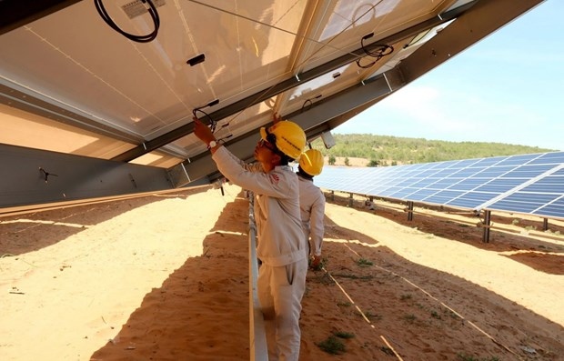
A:
MULTIPOLYGON (((224 193, 0 217, 0 360, 248 360, 248 203, 224 193)), ((301 360, 564 360, 564 225, 494 216, 483 243, 477 217, 327 199, 301 360)))

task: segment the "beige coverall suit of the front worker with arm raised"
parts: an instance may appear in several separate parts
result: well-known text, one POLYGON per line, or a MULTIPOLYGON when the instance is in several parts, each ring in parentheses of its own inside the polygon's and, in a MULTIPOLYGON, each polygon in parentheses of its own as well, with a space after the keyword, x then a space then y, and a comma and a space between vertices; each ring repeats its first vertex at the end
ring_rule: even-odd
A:
POLYGON ((268 173, 245 165, 225 146, 212 155, 229 182, 255 194, 258 269, 257 293, 267 321, 276 329, 276 350, 270 360, 297 361, 299 315, 306 290, 307 242, 301 228, 297 175, 289 165, 268 173), (253 171, 255 170, 255 171, 253 171))

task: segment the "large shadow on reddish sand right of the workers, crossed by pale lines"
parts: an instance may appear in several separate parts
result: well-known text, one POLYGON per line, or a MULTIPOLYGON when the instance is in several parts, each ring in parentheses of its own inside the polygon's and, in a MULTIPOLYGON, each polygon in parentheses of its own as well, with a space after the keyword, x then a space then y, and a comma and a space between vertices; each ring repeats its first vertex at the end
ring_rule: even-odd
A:
POLYGON ((326 359, 321 346, 329 337, 343 344, 341 360, 564 355, 559 324, 464 278, 410 262, 327 215, 323 257, 325 270, 307 279, 300 359, 326 359))

